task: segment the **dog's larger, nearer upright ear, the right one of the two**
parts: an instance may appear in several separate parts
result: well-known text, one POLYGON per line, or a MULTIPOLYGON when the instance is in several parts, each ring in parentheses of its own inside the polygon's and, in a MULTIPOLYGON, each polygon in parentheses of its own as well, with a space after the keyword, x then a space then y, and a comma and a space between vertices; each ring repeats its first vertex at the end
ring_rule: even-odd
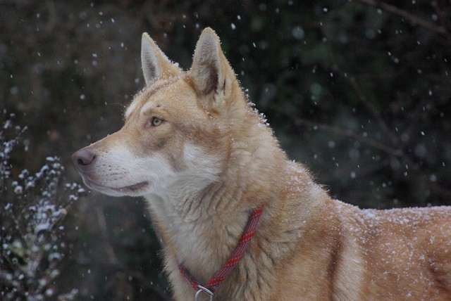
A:
POLYGON ((190 75, 199 95, 209 96, 214 92, 215 101, 230 95, 235 74, 221 50, 218 36, 209 27, 197 41, 190 75))

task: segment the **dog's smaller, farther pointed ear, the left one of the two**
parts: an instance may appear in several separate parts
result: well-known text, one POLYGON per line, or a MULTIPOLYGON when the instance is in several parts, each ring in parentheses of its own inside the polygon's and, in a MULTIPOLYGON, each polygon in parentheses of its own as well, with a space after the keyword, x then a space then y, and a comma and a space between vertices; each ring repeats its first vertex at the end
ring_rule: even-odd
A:
POLYGON ((159 49, 159 46, 156 46, 154 40, 146 32, 142 34, 141 39, 141 64, 146 86, 159 77, 175 76, 182 72, 159 49))

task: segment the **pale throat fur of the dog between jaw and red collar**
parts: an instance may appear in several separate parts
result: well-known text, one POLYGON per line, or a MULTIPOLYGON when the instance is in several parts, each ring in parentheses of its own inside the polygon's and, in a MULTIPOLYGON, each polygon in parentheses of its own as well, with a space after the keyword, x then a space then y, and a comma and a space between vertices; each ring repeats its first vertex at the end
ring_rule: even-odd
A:
POLYGON ((183 264, 197 281, 206 283, 240 241, 250 212, 240 208, 242 191, 237 184, 216 181, 197 192, 180 187, 192 185, 180 183, 178 191, 146 199, 166 255, 183 264), (235 201, 230 202, 230 198, 235 201))

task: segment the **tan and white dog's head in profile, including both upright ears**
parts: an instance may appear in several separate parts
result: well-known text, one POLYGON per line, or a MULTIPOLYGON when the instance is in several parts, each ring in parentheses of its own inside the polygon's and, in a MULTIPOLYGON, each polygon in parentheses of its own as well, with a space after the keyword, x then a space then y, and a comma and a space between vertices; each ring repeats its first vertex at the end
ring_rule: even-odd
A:
POLYGON ((247 101, 218 37, 207 28, 183 72, 142 35, 146 87, 125 110, 118 132, 73 154, 85 184, 111 196, 156 193, 180 181, 202 189, 230 160, 247 101))

